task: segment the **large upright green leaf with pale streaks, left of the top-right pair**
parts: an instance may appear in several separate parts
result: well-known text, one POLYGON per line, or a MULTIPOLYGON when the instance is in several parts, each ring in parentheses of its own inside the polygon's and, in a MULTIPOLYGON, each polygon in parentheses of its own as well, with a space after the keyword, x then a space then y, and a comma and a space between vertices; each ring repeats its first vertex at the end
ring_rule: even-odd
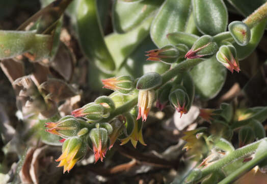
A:
POLYGON ((191 12, 191 1, 166 0, 156 14, 150 36, 158 48, 169 44, 167 34, 185 31, 191 12))

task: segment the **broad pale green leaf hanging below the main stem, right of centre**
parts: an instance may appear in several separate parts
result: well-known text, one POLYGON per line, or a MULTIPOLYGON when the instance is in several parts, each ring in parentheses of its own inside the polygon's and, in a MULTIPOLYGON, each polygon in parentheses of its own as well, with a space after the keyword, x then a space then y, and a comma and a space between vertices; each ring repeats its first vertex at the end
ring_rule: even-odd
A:
POLYGON ((217 61, 216 56, 196 65, 191 71, 196 95, 203 100, 214 98, 223 87, 226 74, 226 68, 217 61))

